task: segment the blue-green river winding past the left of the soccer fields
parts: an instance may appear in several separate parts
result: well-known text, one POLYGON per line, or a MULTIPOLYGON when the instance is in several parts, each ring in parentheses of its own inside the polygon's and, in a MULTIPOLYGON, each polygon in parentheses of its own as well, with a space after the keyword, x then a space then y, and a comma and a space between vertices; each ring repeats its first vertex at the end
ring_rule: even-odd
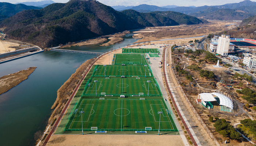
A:
MULTIPOLYGON (((136 42, 126 35, 112 46, 80 46, 64 49, 106 52, 136 42), (131 41, 131 42, 129 42, 131 41)), ((0 77, 37 67, 27 80, 0 95, 1 146, 34 146, 34 133, 44 130, 56 100, 56 91, 86 60, 96 55, 45 51, 0 64, 0 77)))

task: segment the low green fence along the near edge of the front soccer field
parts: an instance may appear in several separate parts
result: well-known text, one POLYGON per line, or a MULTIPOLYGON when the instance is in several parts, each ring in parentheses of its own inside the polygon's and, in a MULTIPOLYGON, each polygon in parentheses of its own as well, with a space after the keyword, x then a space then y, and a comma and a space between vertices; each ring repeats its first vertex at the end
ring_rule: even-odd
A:
MULTIPOLYGON (((64 131, 82 131, 82 129, 64 129, 64 131)), ((158 131, 158 129, 145 130, 145 129, 83 129, 83 131, 158 131)), ((178 131, 177 129, 160 129, 160 131, 178 131)))

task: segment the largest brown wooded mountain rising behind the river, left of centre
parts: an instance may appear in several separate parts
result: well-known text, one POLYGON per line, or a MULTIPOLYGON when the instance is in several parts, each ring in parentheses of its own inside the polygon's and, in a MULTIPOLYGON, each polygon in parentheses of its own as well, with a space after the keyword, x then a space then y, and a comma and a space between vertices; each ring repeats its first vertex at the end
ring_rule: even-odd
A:
POLYGON ((8 38, 41 47, 142 28, 132 18, 98 1, 72 0, 25 10, 0 22, 8 38))

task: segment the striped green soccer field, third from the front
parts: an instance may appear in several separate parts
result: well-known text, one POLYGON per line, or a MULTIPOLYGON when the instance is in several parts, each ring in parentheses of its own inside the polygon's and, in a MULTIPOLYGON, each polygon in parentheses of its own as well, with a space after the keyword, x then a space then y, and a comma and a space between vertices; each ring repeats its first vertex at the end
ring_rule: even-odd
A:
POLYGON ((94 68, 94 77, 109 77, 109 76, 138 76, 138 77, 151 77, 153 76, 149 66, 144 65, 96 65, 94 68))

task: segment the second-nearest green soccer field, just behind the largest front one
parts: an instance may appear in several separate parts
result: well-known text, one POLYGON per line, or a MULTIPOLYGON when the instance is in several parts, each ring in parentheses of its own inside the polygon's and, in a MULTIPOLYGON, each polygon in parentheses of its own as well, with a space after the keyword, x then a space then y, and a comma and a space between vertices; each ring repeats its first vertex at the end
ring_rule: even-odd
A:
POLYGON ((91 78, 85 86, 83 96, 161 96, 156 80, 152 78, 91 78), (150 82, 148 82, 150 81, 150 82))

